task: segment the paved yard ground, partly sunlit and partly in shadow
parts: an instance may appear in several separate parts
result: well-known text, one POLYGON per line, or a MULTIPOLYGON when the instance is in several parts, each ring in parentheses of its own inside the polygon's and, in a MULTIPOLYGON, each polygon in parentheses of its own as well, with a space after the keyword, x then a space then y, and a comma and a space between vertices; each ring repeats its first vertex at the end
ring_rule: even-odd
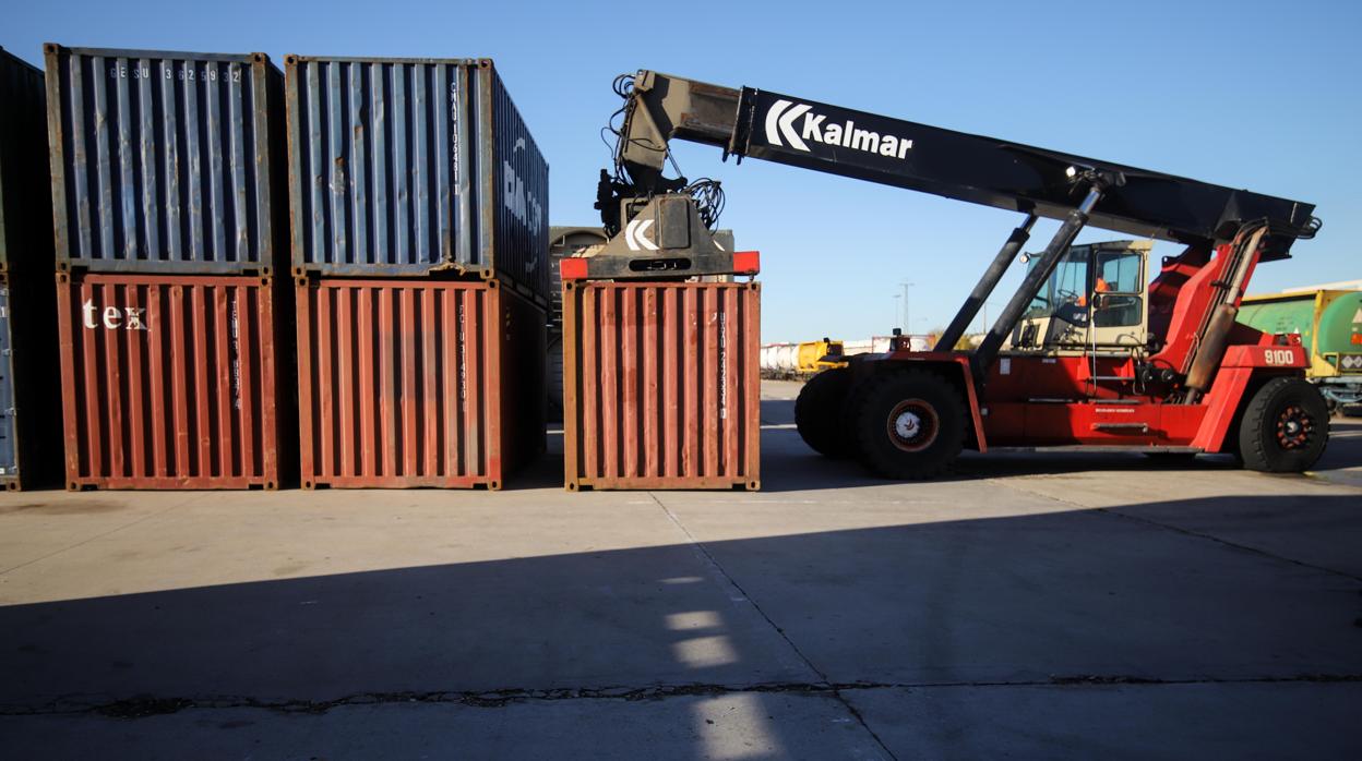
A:
POLYGON ((0 754, 1362 758, 1362 419, 893 483, 797 388, 759 493, 0 494, 0 754))

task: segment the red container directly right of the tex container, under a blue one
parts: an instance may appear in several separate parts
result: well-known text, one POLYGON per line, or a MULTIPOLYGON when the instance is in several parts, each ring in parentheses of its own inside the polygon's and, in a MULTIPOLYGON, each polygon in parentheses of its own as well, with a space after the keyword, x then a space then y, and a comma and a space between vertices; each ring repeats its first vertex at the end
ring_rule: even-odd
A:
POLYGON ((543 452, 546 316, 497 280, 297 280, 302 487, 500 489, 543 452))

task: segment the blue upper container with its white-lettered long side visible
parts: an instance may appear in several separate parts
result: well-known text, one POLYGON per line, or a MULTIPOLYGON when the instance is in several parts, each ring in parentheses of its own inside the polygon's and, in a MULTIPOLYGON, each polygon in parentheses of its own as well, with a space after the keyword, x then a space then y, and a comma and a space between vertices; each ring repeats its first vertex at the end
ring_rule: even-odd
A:
POLYGON ((549 165, 486 59, 285 59, 296 275, 549 295, 549 165))

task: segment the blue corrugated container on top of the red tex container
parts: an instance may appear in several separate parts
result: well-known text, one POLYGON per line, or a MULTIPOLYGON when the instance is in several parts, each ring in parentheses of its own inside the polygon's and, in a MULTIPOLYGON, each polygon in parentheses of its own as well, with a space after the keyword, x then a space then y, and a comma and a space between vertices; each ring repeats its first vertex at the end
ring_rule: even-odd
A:
POLYGON ((60 270, 287 263, 283 75, 264 53, 44 50, 60 270))

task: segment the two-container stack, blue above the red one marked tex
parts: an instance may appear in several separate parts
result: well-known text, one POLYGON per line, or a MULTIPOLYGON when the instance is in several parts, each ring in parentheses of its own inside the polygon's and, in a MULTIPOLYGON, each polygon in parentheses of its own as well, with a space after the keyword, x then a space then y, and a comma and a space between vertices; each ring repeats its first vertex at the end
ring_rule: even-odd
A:
POLYGON ((46 45, 68 489, 276 489, 294 462, 283 78, 46 45))

